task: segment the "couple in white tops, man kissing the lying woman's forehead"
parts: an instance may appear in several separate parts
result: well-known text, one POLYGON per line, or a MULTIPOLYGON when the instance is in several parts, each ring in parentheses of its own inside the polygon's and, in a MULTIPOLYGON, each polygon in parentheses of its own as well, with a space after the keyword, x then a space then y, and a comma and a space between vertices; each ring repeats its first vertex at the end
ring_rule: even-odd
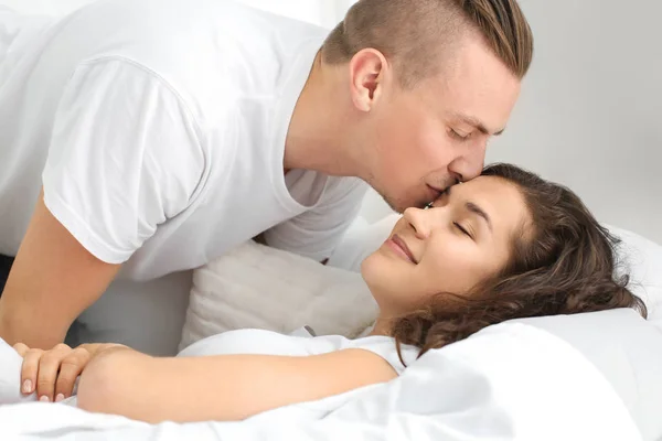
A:
POLYGON ((360 0, 330 35, 218 0, 3 21, 0 254, 15 260, 0 337, 40 400, 82 374, 89 410, 242 419, 388 381, 504 320, 645 313, 575 195, 511 165, 481 173, 533 54, 515 0, 360 0), (363 263, 373 335, 237 331, 175 358, 60 344, 114 280, 191 270, 250 238, 324 262, 364 182, 404 212, 363 263))

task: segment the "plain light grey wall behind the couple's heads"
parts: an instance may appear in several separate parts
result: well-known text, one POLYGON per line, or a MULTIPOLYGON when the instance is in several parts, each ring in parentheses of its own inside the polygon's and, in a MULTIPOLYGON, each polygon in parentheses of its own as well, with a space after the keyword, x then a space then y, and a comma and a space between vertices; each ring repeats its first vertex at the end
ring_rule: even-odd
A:
MULTIPOLYGON (((662 1, 521 3, 535 61, 488 161, 559 181, 600 220, 662 244, 662 1)), ((366 198, 366 217, 387 212, 366 198)))

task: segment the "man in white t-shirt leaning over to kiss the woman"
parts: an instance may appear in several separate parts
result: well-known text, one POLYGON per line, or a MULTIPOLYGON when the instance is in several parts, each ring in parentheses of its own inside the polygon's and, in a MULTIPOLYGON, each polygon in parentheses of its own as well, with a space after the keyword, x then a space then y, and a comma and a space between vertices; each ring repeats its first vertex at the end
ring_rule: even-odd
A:
POLYGON ((361 0, 328 37, 220 0, 29 24, 0 54, 0 336, 41 348, 114 280, 258 235, 324 261, 362 182, 402 211, 477 176, 533 52, 515 0, 361 0))

